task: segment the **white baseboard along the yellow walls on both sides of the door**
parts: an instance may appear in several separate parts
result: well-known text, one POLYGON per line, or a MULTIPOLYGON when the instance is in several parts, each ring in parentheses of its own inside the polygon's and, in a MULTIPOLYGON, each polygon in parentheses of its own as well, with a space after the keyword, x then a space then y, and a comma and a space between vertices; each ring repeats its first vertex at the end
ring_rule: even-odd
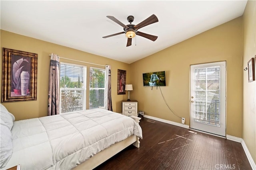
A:
MULTIPOLYGON (((174 121, 160 119, 158 117, 153 117, 153 116, 149 116, 149 115, 144 115, 144 117, 146 117, 148 119, 153 119, 153 120, 156 120, 156 121, 161 121, 161 122, 164 122, 164 123, 168 123, 168 124, 171 124, 171 125, 175 125, 175 126, 184 127, 186 129, 189 129, 189 125, 184 125, 182 123, 177 123, 177 122, 174 122, 174 121)), ((246 156, 248 158, 248 161, 250 162, 250 165, 251 165, 252 169, 256 170, 255 162, 252 159, 252 156, 251 156, 248 148, 246 147, 246 144, 245 144, 244 140, 242 138, 240 138, 240 137, 234 137, 234 136, 231 136, 231 135, 226 135, 226 139, 228 139, 230 141, 239 142, 239 143, 242 144, 242 147, 243 147, 244 152, 245 152, 245 154, 246 154, 246 156)))

